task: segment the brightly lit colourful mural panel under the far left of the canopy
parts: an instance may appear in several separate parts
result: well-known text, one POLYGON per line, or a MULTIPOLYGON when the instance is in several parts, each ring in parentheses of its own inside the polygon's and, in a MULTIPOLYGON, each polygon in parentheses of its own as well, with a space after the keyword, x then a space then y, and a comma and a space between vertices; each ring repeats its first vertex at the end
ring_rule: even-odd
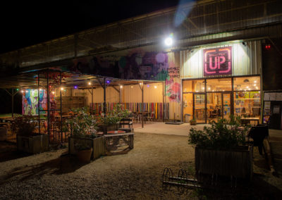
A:
MULTIPOLYGON (((47 91, 39 90, 39 105, 40 110, 47 109, 47 91)), ((40 111, 44 114, 45 111, 40 111)), ((23 115, 38 115, 38 90, 26 89, 23 92, 23 115)))

